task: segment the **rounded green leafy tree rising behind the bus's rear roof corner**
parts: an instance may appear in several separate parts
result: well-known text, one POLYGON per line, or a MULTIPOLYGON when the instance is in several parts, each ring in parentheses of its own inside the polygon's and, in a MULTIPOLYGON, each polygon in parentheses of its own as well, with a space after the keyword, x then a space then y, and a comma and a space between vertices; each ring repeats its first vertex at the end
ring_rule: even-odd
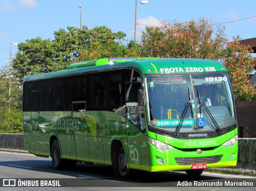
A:
POLYGON ((24 76, 66 69, 67 61, 60 58, 56 46, 56 42, 40 37, 18 44, 18 52, 12 62, 16 76, 23 80, 24 76))

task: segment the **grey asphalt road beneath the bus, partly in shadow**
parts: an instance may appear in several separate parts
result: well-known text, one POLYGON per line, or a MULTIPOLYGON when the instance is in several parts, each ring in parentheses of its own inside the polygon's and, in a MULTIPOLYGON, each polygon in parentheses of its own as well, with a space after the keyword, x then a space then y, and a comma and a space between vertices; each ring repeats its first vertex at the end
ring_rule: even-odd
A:
POLYGON ((218 173, 204 172, 199 177, 189 177, 185 172, 157 172, 150 173, 144 171, 135 171, 130 179, 120 179, 114 177, 114 172, 107 165, 90 165, 78 163, 75 169, 56 170, 52 166, 51 158, 36 157, 31 154, 0 152, 0 190, 35 190, 35 187, 26 187, 26 184, 40 185, 40 181, 46 180, 46 184, 61 185, 62 187, 37 187, 37 191, 45 190, 104 190, 104 191, 163 191, 163 190, 227 190, 240 191, 256 190, 256 178, 242 175, 225 175, 218 173), (24 187, 6 187, 6 182, 15 179, 16 185, 18 181, 24 187), (49 181, 50 180, 50 181, 49 181), (34 182, 33 182, 34 181, 34 182), (36 182, 38 181, 38 182, 36 182), (253 183, 253 187, 232 187, 230 183, 247 182, 253 183), (200 183, 211 184, 228 183, 227 187, 202 187, 200 183), (179 185, 178 185, 179 184, 179 185), (186 184, 183 187, 182 184, 186 184), (178 185, 178 186, 177 186, 178 185), (196 186, 194 186, 196 185, 196 186))

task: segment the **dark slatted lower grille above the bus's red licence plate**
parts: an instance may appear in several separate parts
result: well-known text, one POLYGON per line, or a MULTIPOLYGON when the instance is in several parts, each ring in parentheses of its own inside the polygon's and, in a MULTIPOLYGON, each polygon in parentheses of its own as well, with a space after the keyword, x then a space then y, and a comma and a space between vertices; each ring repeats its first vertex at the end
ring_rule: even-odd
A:
POLYGON ((210 157, 175 158, 178 165, 191 165, 196 163, 218 163, 223 155, 210 157))

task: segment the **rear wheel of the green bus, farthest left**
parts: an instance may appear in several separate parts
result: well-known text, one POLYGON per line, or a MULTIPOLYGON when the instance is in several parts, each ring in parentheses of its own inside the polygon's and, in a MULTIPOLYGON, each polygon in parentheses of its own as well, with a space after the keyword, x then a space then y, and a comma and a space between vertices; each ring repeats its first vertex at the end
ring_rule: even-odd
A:
POLYGON ((60 146, 57 140, 52 143, 52 164, 56 169, 64 167, 64 160, 60 157, 60 146))

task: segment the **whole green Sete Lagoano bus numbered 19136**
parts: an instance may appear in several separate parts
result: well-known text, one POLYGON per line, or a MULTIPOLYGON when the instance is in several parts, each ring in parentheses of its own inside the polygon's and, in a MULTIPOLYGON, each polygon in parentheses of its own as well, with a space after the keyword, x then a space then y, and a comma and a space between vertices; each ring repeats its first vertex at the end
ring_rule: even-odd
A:
POLYGON ((219 62, 181 58, 102 58, 26 76, 25 148, 76 163, 186 171, 235 166, 238 129, 230 77, 219 62), (204 96, 204 97, 203 97, 204 96))

